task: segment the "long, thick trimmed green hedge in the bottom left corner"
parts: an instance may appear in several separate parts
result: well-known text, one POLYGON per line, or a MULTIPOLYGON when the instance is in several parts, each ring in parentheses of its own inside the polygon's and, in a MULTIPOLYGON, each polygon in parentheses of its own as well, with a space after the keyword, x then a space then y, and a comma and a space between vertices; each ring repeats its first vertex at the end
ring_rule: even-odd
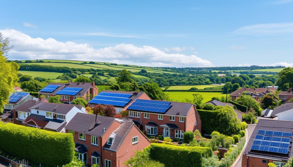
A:
POLYGON ((43 167, 62 166, 74 158, 73 136, 0 122, 0 149, 43 167))

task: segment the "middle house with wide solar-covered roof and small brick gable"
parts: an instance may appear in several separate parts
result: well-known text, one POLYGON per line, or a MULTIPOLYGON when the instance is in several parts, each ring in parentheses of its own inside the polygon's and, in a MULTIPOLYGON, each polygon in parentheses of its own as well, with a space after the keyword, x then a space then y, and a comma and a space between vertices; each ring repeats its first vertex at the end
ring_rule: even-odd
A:
POLYGON ((113 105, 115 107, 117 114, 125 110, 129 105, 132 104, 136 99, 146 99, 151 100, 149 96, 144 92, 124 92, 124 91, 101 91, 97 96, 95 96, 92 100, 88 102, 88 107, 94 107, 95 105, 101 104, 101 105, 113 105), (105 100, 108 97, 107 100, 105 100), (110 99, 110 97, 112 97, 110 99), (114 100, 117 101, 117 97, 124 97, 122 100, 127 100, 124 103, 114 103, 114 100), (113 99, 115 98, 115 99, 113 99), (113 102, 110 102, 110 101, 113 102))

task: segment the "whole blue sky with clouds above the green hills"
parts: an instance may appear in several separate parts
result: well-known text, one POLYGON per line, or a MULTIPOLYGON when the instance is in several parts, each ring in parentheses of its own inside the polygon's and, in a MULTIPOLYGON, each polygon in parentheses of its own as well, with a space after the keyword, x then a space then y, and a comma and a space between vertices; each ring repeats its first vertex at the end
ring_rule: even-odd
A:
POLYGON ((10 59, 293 66, 293 0, 2 1, 10 59))

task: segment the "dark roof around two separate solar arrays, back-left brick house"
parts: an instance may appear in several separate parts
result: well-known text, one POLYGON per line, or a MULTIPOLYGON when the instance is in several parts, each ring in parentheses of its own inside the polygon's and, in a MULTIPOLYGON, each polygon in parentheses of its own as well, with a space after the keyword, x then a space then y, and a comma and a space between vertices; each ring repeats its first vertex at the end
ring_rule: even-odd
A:
POLYGON ((50 94, 55 95, 57 91, 62 90, 66 87, 71 88, 82 88, 82 90, 77 93, 75 96, 84 96, 86 92, 91 88, 92 83, 82 83, 82 82, 71 82, 71 83, 49 83, 49 85, 60 85, 56 90, 54 90, 52 93, 49 92, 41 92, 39 91, 39 94, 50 94))

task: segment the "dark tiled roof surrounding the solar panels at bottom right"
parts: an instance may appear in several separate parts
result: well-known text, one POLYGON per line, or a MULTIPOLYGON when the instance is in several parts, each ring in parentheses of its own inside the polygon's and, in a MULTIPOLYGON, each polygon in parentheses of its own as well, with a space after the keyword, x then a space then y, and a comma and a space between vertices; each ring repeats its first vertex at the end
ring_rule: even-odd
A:
MULTIPOLYGON (((289 144, 288 154, 280 154, 273 152, 263 152, 257 150, 251 150, 253 140, 258 133, 258 130, 267 130, 267 131, 284 131, 293 133, 293 121, 283 121, 283 120, 272 120, 272 119, 260 119, 248 141, 244 153, 251 156, 259 156, 265 159, 279 159, 279 160, 289 160, 293 156, 292 142, 289 144)), ((292 141, 292 138, 291 138, 292 141)))

